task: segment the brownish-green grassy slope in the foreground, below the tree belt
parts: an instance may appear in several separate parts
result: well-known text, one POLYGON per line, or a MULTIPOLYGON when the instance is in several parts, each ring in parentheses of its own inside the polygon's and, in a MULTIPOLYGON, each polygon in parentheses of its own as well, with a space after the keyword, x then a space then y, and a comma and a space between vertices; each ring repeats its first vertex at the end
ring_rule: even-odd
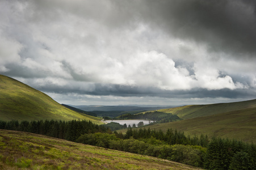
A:
POLYGON ((19 131, 0 130, 0 169, 198 169, 19 131))

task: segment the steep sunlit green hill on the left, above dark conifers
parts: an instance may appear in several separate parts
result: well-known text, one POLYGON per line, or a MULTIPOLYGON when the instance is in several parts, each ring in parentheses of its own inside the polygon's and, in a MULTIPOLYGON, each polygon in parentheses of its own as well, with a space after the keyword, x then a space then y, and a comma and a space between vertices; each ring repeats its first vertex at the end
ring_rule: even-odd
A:
POLYGON ((18 80, 0 75, 0 119, 9 120, 90 120, 100 118, 72 111, 43 92, 18 80))

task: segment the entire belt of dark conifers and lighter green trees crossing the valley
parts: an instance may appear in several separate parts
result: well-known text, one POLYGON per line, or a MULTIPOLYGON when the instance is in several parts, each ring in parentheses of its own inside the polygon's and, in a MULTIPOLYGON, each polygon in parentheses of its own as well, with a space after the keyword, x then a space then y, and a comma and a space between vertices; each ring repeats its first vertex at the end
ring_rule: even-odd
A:
POLYGON ((256 145, 237 140, 190 137, 183 132, 128 128, 112 132, 90 121, 0 121, 0 129, 26 131, 119 151, 155 156, 205 169, 255 169, 256 145))

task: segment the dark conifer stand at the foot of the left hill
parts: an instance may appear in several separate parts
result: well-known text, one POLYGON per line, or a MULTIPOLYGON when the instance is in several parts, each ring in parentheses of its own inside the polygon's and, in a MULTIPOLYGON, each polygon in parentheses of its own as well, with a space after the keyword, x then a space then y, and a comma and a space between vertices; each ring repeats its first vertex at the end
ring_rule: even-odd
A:
POLYGON ((26 131, 47 135, 54 138, 75 141, 80 135, 87 133, 112 133, 109 128, 93 124, 91 121, 0 121, 0 129, 26 131))

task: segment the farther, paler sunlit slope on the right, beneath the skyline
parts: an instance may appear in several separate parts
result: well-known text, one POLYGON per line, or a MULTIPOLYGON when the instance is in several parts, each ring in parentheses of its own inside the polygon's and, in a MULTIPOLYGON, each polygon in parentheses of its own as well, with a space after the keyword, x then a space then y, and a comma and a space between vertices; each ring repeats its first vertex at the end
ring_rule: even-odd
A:
POLYGON ((256 99, 248 101, 240 101, 234 103, 218 103, 206 105, 186 105, 183 107, 160 109, 159 112, 177 114, 182 119, 194 118, 200 116, 209 116, 212 114, 237 111, 241 109, 256 107, 256 99))

